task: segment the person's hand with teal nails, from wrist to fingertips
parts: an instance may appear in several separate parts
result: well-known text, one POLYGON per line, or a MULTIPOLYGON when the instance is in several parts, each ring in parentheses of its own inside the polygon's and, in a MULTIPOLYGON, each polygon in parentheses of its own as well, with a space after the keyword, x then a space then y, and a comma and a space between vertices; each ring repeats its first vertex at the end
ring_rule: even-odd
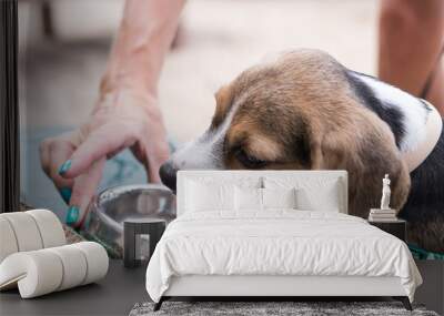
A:
POLYGON ((145 166, 150 181, 160 182, 159 167, 169 147, 155 98, 147 93, 109 93, 78 130, 40 144, 42 169, 70 206, 68 224, 82 224, 107 159, 127 147, 145 166))

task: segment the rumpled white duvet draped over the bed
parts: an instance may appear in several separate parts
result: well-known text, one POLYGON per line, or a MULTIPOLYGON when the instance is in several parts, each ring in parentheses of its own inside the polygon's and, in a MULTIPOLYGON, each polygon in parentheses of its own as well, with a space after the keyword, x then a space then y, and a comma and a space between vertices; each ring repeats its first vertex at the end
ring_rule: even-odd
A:
POLYGON ((397 276, 411 300, 422 283, 408 247, 364 220, 285 210, 173 221, 149 263, 147 290, 159 302, 183 275, 397 276))

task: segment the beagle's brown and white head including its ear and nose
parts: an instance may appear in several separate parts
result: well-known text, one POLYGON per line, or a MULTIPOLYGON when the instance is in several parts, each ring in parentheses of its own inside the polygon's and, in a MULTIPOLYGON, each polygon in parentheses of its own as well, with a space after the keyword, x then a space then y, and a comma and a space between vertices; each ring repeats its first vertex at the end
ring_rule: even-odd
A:
POLYGON ((385 173, 392 176, 393 205, 404 203, 408 173, 392 131, 360 104, 345 69, 326 53, 284 53, 242 72, 215 100, 209 130, 161 167, 171 188, 179 170, 344 169, 351 200, 360 197, 361 206, 375 205, 385 173), (371 197, 353 196, 359 186, 371 197))

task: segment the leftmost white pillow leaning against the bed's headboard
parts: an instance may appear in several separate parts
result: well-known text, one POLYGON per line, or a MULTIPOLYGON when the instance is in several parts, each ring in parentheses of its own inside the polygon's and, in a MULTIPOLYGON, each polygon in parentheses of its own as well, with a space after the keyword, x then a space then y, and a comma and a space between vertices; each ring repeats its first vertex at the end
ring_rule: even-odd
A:
POLYGON ((185 212, 205 212, 234 208, 234 186, 188 181, 185 212))

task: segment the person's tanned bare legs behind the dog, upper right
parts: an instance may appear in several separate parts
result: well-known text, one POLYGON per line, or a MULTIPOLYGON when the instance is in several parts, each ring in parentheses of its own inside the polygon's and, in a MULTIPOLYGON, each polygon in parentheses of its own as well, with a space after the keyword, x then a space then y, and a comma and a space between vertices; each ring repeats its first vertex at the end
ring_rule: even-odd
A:
POLYGON ((382 0, 379 77, 420 96, 435 77, 427 100, 444 115, 444 1, 382 0))

